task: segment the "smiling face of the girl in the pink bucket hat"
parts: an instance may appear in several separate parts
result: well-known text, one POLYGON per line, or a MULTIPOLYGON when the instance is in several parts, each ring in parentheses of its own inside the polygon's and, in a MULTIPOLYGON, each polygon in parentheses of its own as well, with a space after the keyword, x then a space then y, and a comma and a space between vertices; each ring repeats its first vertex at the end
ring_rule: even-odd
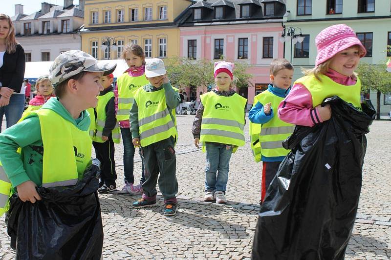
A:
POLYGON ((342 75, 351 76, 359 63, 360 49, 358 47, 350 47, 334 55, 328 67, 342 75))

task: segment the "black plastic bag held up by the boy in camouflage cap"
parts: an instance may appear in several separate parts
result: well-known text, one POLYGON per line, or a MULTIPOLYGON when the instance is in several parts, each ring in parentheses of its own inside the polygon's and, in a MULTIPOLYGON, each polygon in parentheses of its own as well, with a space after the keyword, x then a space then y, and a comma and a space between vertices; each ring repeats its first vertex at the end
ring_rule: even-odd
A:
POLYGON ((19 260, 99 260, 103 225, 98 199, 99 167, 68 187, 37 188, 42 200, 10 198, 7 233, 19 260))

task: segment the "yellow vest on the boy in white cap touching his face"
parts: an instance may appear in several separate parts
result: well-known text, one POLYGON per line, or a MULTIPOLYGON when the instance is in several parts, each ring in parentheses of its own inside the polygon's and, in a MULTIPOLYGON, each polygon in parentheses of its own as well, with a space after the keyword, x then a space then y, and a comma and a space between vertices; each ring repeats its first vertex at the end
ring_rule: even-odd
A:
MULTIPOLYGON (((173 89, 178 91, 177 88, 173 87, 173 89)), ((145 147, 171 136, 176 140, 178 133, 176 130, 175 109, 171 111, 174 116, 173 121, 166 104, 164 88, 147 92, 141 87, 134 94, 134 99, 138 105, 138 127, 141 146, 145 147)))

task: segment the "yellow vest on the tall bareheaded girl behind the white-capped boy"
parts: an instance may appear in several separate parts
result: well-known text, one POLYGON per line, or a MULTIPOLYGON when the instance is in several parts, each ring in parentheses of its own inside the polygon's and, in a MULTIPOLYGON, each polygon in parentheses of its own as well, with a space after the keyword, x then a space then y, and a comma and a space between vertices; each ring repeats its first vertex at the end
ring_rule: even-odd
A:
POLYGON ((149 81, 145 75, 139 77, 131 77, 128 72, 125 72, 117 79, 118 88, 118 110, 117 120, 129 120, 130 109, 133 105, 134 94, 136 91, 148 84, 149 81))

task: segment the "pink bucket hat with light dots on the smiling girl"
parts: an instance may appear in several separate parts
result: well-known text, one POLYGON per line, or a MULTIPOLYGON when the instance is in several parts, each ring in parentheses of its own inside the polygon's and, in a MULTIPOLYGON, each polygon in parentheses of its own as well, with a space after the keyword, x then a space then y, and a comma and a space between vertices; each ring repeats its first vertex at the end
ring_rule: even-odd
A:
POLYGON ((353 45, 360 46, 360 58, 367 54, 367 50, 357 38, 353 29, 346 24, 335 24, 323 29, 315 38, 318 54, 315 66, 331 59, 334 55, 353 45))

